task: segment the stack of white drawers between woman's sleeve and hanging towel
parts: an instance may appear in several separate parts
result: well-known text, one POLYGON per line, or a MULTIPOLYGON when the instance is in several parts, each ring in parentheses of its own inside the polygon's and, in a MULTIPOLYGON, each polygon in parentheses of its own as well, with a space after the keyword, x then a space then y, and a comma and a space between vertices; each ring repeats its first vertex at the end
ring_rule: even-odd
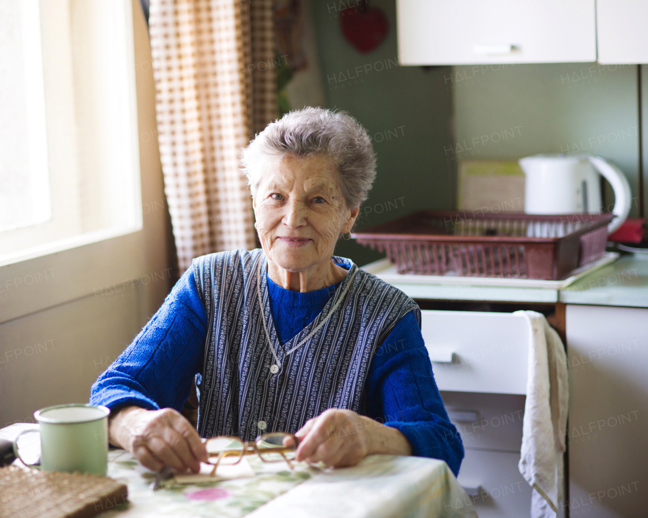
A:
POLYGON ((458 480, 481 518, 528 516, 520 475, 529 324, 521 315, 421 311, 434 378, 465 448, 458 480))

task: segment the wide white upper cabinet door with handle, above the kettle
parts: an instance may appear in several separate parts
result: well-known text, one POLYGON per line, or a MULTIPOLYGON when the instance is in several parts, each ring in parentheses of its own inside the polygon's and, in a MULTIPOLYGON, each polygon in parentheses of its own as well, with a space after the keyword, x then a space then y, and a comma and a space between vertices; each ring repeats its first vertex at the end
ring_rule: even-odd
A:
POLYGON ((397 0, 397 30, 401 65, 596 61, 594 0, 397 0))

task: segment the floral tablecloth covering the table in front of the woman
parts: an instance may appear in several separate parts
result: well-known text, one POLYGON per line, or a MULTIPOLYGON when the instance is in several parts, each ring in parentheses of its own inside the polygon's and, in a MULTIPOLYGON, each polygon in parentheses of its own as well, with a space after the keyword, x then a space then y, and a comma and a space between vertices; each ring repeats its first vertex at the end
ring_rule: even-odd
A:
MULTIPOLYGON (((28 425, 33 427, 33 425, 28 425)), ((0 430, 11 439, 25 427, 0 430)), ((33 434, 36 436, 36 434, 33 434)), ((32 436, 32 434, 29 434, 32 436)), ((26 436, 26 437, 29 437, 26 436)), ((36 436, 37 437, 37 436, 36 436)), ((23 447, 21 445, 21 451, 23 447)), ((108 453, 108 476, 128 486, 128 504, 102 517, 476 517, 472 500, 440 460, 372 455, 354 467, 319 470, 248 457, 253 478, 150 489, 156 474, 122 449, 108 453)), ((19 462, 19 461, 16 461, 19 462)))

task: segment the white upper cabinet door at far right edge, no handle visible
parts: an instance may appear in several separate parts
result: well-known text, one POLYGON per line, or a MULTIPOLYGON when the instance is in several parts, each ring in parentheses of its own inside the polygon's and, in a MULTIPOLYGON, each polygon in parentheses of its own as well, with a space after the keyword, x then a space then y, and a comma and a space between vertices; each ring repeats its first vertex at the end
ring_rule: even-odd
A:
POLYGON ((648 63, 647 19, 646 0, 597 0, 599 63, 648 63))

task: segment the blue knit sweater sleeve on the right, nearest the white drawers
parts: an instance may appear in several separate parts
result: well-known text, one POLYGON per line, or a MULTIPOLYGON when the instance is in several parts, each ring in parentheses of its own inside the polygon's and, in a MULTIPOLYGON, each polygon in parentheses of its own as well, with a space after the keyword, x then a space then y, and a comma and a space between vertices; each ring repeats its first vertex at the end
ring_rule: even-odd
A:
POLYGON ((373 357, 367 410, 369 417, 400 430, 413 455, 445 460, 459 473, 463 443, 448 419, 413 312, 399 320, 373 357))

